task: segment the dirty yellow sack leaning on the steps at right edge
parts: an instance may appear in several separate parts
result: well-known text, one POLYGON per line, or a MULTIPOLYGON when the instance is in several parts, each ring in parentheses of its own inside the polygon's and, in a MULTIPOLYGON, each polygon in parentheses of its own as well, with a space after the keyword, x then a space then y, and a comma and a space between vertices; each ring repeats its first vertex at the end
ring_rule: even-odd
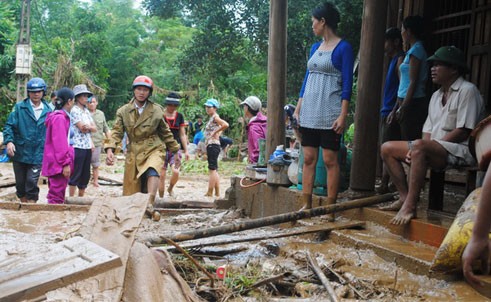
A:
POLYGON ((471 238, 480 200, 481 188, 475 189, 466 198, 435 254, 430 273, 450 274, 462 270, 462 253, 471 238))

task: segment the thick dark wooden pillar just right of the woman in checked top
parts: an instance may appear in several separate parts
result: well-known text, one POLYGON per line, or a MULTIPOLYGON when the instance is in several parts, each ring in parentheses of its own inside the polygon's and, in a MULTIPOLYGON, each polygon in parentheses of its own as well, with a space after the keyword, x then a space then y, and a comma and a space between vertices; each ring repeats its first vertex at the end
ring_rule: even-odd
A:
POLYGON ((388 0, 365 0, 361 26, 358 99, 351 162, 350 188, 371 191, 375 186, 380 117, 384 35, 388 0))

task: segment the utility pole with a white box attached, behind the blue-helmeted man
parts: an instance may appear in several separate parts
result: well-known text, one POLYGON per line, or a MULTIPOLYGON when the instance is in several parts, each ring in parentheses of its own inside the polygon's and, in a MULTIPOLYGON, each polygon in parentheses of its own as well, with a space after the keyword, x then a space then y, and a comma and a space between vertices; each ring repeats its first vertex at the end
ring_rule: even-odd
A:
POLYGON ((19 41, 15 56, 15 75, 17 78, 17 102, 26 97, 26 83, 31 75, 32 49, 31 49, 31 0, 22 1, 20 17, 19 41))

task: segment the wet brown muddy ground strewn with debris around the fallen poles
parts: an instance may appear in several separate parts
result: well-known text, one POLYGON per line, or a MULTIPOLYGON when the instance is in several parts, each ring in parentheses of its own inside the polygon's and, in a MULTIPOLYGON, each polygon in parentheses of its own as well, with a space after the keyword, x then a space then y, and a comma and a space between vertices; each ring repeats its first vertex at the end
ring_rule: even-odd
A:
MULTIPOLYGON (((122 179, 122 161, 115 167, 102 168, 101 175, 122 179)), ((12 179, 10 164, 0 164, 2 179, 12 179)), ((221 175, 221 195, 230 186, 229 177, 221 175)), ((175 188, 176 197, 166 200, 209 201, 204 197, 207 175, 183 175, 175 188)), ((87 188, 87 196, 108 198, 121 196, 121 187, 100 185, 87 188)), ((13 187, 0 189, 1 201, 12 201, 13 187)), ((45 202, 47 186, 41 185, 41 200, 45 202)), ((15 253, 28 247, 43 246, 66 239, 76 233, 85 218, 85 211, 45 212, 0 210, 0 251, 15 253)), ((246 220, 240 209, 174 209, 160 222, 145 219, 137 240, 147 242, 155 235, 176 234, 200 228, 215 227, 246 220)), ((220 238, 245 238, 293 231, 305 226, 325 225, 322 217, 299 221, 295 225, 264 227, 220 238)), ((376 227, 378 236, 393 236, 376 227)), ((199 242, 220 239, 212 237, 199 242)), ((188 244, 183 242, 180 244, 188 244)), ((160 248, 168 248, 162 246, 160 248)), ((395 263, 387 262, 371 250, 339 245, 328 236, 302 235, 278 239, 192 248, 191 257, 214 276, 217 269, 225 270, 224 279, 214 287, 206 275, 180 253, 173 254, 177 270, 203 299, 208 301, 326 301, 327 291, 313 273, 307 254, 313 255, 344 301, 470 301, 469 288, 463 282, 446 282, 415 275, 395 263), (274 278, 276 277, 276 278, 274 278), (268 280, 268 278, 272 278, 268 280), (267 282, 261 281, 267 280, 267 282), (297 299, 297 300, 289 300, 297 299)), ((1 256, 1 255, 0 255, 1 256)))

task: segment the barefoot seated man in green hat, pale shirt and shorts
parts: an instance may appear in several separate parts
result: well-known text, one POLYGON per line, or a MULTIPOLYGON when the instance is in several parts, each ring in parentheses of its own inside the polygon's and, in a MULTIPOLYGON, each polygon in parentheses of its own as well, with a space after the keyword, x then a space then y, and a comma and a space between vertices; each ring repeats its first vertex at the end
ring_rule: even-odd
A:
POLYGON ((476 86, 463 78, 469 71, 463 52, 454 46, 439 48, 428 58, 433 83, 440 89, 431 96, 422 139, 389 141, 381 154, 399 200, 383 210, 399 211, 392 224, 407 224, 416 217, 419 194, 428 168, 475 164, 468 141, 471 130, 484 115, 484 102, 476 86), (410 165, 409 182, 403 163, 410 165))

